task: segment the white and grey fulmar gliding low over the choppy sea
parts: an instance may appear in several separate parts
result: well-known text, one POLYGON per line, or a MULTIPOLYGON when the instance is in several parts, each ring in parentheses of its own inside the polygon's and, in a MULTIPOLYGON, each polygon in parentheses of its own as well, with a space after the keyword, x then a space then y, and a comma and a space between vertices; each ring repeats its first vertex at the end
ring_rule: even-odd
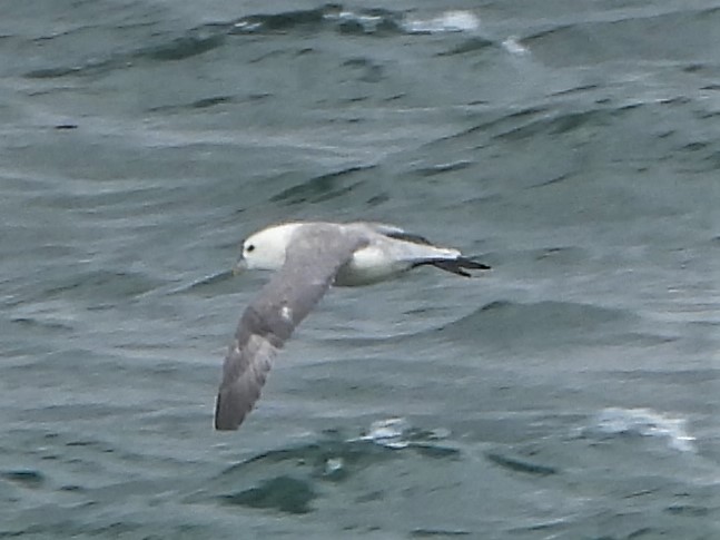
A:
POLYGON ((432 265, 470 277, 490 266, 423 236, 377 223, 296 222, 243 242, 236 271, 276 271, 247 306, 223 366, 217 430, 237 430, 260 396, 273 359, 295 327, 334 286, 362 286, 432 265))

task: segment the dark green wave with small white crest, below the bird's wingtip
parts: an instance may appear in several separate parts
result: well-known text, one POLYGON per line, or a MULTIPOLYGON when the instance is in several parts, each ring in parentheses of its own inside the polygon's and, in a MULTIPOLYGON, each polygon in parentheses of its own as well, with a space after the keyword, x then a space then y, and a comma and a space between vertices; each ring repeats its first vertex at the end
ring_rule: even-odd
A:
MULTIPOLYGON (((413 428, 405 419, 373 422, 359 436, 328 431, 317 440, 256 454, 225 469, 209 489, 188 497, 224 505, 263 508, 283 513, 314 511, 313 501, 346 482, 364 483, 371 469, 394 461, 455 460, 460 451, 443 440, 447 433, 413 428), (223 494, 210 494, 210 493, 223 494)), ((433 465, 427 465, 433 467, 433 465)), ((384 489, 378 485, 378 489, 384 489)))

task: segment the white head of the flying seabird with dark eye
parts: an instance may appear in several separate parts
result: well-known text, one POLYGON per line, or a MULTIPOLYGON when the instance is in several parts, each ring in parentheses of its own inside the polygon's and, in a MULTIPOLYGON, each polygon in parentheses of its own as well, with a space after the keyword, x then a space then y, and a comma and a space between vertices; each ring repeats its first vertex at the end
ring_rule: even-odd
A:
POLYGON ((275 271, 285 264, 285 251, 299 223, 286 223, 264 228, 243 242, 243 253, 235 272, 248 269, 275 271))

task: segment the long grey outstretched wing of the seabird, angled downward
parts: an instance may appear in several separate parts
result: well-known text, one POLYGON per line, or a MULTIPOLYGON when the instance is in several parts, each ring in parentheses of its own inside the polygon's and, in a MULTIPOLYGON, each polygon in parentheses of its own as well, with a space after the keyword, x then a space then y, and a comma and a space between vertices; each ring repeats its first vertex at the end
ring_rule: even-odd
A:
POLYGON ((215 428, 237 430, 260 396, 273 359, 365 240, 338 227, 300 228, 285 265, 245 310, 223 366, 215 428))

